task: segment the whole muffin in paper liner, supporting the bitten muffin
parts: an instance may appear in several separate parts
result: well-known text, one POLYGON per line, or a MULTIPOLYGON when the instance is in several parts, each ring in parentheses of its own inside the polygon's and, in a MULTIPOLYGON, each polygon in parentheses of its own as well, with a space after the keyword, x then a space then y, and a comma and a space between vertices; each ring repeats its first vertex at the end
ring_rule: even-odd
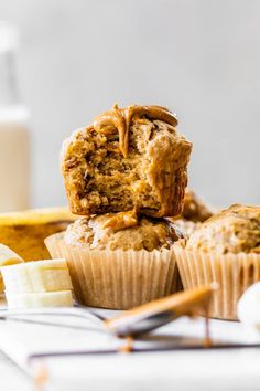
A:
POLYGON ((79 219, 45 243, 67 260, 79 303, 128 309, 178 289, 172 244, 184 237, 166 220, 120 212, 79 219))

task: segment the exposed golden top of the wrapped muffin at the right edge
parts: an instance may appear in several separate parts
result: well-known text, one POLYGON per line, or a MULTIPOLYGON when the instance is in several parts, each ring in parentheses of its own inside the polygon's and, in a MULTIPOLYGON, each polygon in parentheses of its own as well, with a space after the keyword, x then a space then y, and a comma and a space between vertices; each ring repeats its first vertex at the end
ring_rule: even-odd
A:
POLYGON ((260 207, 234 204, 205 221, 188 239, 187 250, 260 253, 260 207))

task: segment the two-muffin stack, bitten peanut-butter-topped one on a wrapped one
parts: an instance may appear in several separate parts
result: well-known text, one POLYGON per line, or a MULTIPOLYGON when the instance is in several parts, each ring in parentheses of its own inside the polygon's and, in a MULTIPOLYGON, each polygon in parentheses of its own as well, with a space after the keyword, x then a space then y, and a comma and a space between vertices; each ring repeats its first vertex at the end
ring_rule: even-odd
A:
POLYGON ((84 215, 46 240, 66 257, 76 298, 126 309, 177 288, 172 244, 182 213, 192 144, 161 106, 117 105, 64 141, 71 210, 84 215))

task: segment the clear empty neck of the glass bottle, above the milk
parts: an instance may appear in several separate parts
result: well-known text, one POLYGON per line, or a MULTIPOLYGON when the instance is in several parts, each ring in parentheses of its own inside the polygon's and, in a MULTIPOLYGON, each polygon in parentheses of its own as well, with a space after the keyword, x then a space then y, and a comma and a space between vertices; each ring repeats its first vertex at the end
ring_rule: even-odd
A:
POLYGON ((15 51, 0 52, 0 106, 19 104, 15 51))

